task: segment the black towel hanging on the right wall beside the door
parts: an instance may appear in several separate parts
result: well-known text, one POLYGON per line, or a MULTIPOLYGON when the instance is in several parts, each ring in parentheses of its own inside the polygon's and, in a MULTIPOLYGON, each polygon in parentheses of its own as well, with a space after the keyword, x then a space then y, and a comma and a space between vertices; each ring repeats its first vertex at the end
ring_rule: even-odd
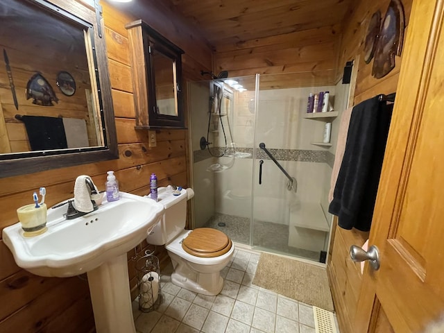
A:
POLYGON ((393 104, 379 96, 353 108, 334 198, 328 211, 344 229, 370 230, 393 104))

